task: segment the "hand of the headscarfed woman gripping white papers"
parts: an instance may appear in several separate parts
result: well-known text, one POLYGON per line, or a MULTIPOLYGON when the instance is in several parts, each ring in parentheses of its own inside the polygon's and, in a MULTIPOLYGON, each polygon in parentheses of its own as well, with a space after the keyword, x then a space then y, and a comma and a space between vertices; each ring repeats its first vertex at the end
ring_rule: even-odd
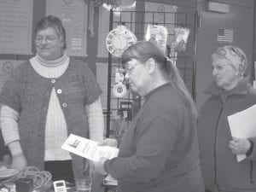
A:
POLYGON ((233 137, 233 140, 230 141, 230 148, 233 154, 246 154, 251 143, 247 139, 233 137))

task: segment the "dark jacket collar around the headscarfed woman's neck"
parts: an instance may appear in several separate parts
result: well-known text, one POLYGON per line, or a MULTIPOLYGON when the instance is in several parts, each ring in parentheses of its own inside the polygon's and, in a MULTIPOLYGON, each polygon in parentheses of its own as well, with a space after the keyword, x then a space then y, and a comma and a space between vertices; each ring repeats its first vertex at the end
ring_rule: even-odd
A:
POLYGON ((224 91, 224 90, 220 89, 215 82, 212 82, 212 84, 210 84, 210 86, 204 93, 212 94, 214 96, 231 96, 234 94, 246 95, 248 86, 250 86, 249 76, 246 75, 243 79, 241 79, 241 81, 232 90, 224 91))

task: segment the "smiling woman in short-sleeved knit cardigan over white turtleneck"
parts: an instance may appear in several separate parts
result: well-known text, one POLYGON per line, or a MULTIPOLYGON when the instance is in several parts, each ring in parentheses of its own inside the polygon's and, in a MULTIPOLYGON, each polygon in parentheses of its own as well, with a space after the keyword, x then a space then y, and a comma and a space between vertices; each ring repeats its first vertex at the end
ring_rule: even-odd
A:
POLYGON ((83 61, 67 56, 66 32, 49 15, 35 27, 37 54, 3 86, 0 123, 12 167, 37 166, 73 183, 84 159, 61 149, 70 133, 103 139, 102 90, 83 61))

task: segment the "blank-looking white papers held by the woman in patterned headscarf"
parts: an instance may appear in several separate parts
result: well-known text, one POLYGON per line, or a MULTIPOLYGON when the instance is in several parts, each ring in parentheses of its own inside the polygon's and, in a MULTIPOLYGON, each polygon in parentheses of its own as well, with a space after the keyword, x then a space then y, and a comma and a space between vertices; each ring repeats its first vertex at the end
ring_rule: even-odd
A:
MULTIPOLYGON (((239 113, 228 116, 232 137, 248 138, 256 137, 256 105, 239 113)), ((237 161, 246 159, 246 155, 236 155, 237 161)))

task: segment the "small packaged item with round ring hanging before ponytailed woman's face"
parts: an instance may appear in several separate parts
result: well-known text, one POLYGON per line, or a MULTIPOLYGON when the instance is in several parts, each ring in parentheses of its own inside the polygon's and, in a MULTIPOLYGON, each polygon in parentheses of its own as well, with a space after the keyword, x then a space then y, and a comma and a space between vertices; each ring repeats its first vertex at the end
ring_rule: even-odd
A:
POLYGON ((113 95, 117 97, 123 97, 125 96, 127 89, 125 84, 123 84, 123 81, 125 79, 125 76, 121 69, 116 68, 115 69, 115 85, 113 86, 113 95))

